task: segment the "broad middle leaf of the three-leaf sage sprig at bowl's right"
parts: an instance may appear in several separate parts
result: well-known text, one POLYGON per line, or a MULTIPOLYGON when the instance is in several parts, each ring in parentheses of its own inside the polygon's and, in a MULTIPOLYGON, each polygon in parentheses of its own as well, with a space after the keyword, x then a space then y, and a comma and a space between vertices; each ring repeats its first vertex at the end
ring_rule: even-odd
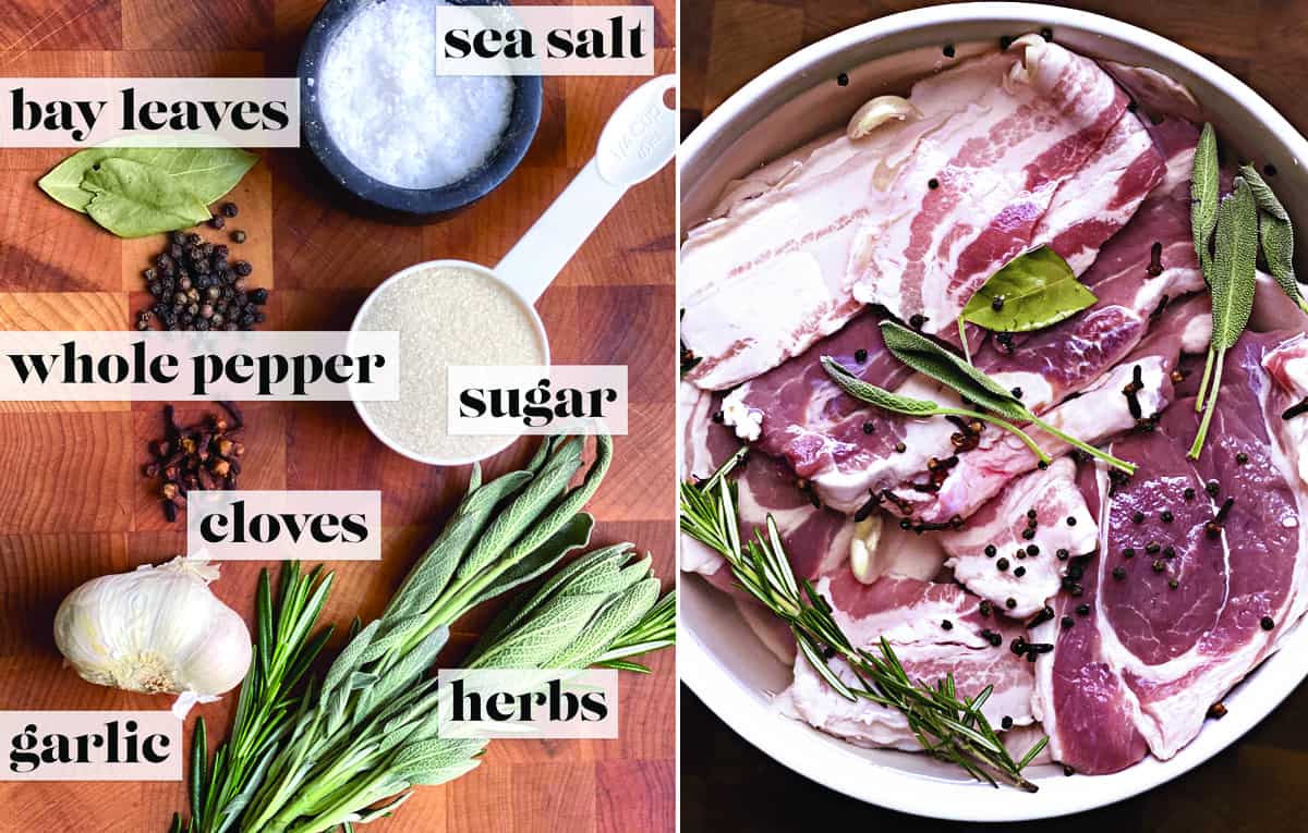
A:
POLYGON ((1253 189, 1241 176, 1218 209, 1213 256, 1213 346, 1230 350, 1253 312, 1258 264, 1258 213, 1253 189))

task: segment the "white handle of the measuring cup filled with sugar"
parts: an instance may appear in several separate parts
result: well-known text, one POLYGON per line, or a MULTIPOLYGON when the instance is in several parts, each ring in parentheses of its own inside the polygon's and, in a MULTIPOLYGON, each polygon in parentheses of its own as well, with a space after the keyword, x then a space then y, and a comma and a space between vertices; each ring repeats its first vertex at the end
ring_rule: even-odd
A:
POLYGON ((632 185, 676 153, 676 111, 663 103, 676 76, 650 78, 628 95, 599 134, 595 158, 577 174, 494 273, 535 303, 632 185))

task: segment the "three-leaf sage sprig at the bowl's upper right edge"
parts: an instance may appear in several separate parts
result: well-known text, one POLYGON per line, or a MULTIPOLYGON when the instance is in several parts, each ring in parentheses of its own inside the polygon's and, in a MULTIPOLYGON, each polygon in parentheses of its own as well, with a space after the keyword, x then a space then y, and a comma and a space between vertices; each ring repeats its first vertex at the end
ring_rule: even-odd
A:
POLYGON ((1205 124, 1190 172, 1190 226, 1199 268, 1213 295, 1213 336, 1194 402, 1194 410, 1203 414, 1189 450, 1194 460, 1203 452, 1216 409, 1226 353, 1240 339, 1253 313, 1260 251, 1281 289, 1308 312, 1295 281, 1290 214, 1253 166, 1241 166, 1226 200, 1218 191, 1219 176, 1216 133, 1211 124, 1205 124))

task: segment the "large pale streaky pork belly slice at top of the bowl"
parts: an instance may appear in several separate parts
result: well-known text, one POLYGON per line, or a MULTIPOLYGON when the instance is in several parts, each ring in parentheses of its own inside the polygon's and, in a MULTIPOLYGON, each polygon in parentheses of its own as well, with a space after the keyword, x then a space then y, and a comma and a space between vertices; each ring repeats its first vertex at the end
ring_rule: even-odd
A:
POLYGON ((689 380, 752 379, 862 302, 944 332, 1033 243, 1062 238, 1088 264, 1160 175, 1112 78, 1039 38, 918 81, 909 101, 921 119, 806 145, 769 166, 774 187, 689 231, 681 337, 701 358, 689 380))

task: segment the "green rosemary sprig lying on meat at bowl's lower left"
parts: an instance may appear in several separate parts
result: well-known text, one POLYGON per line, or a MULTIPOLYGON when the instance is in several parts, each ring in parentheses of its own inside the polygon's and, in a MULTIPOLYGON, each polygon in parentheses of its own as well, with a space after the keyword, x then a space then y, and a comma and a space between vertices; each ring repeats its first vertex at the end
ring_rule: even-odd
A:
POLYGON ((846 700, 863 699, 897 709, 908 718, 925 752, 960 766, 973 778, 991 786, 1003 781, 1035 793, 1036 785, 1022 770, 1040 753, 1048 738, 1041 738, 1020 761, 1014 760, 981 712, 991 687, 974 697, 960 697, 952 674, 934 685, 909 678, 884 637, 875 652, 853 645, 832 616, 831 603, 810 581, 795 580, 772 516, 768 516, 765 530, 755 530, 753 538, 742 543, 735 483, 726 478, 738 460, 738 456, 731 457, 708 488, 681 483, 681 531, 719 552, 736 582, 790 625, 799 652, 833 691, 846 700), (846 684, 827 665, 828 650, 848 663, 857 684, 846 684))

